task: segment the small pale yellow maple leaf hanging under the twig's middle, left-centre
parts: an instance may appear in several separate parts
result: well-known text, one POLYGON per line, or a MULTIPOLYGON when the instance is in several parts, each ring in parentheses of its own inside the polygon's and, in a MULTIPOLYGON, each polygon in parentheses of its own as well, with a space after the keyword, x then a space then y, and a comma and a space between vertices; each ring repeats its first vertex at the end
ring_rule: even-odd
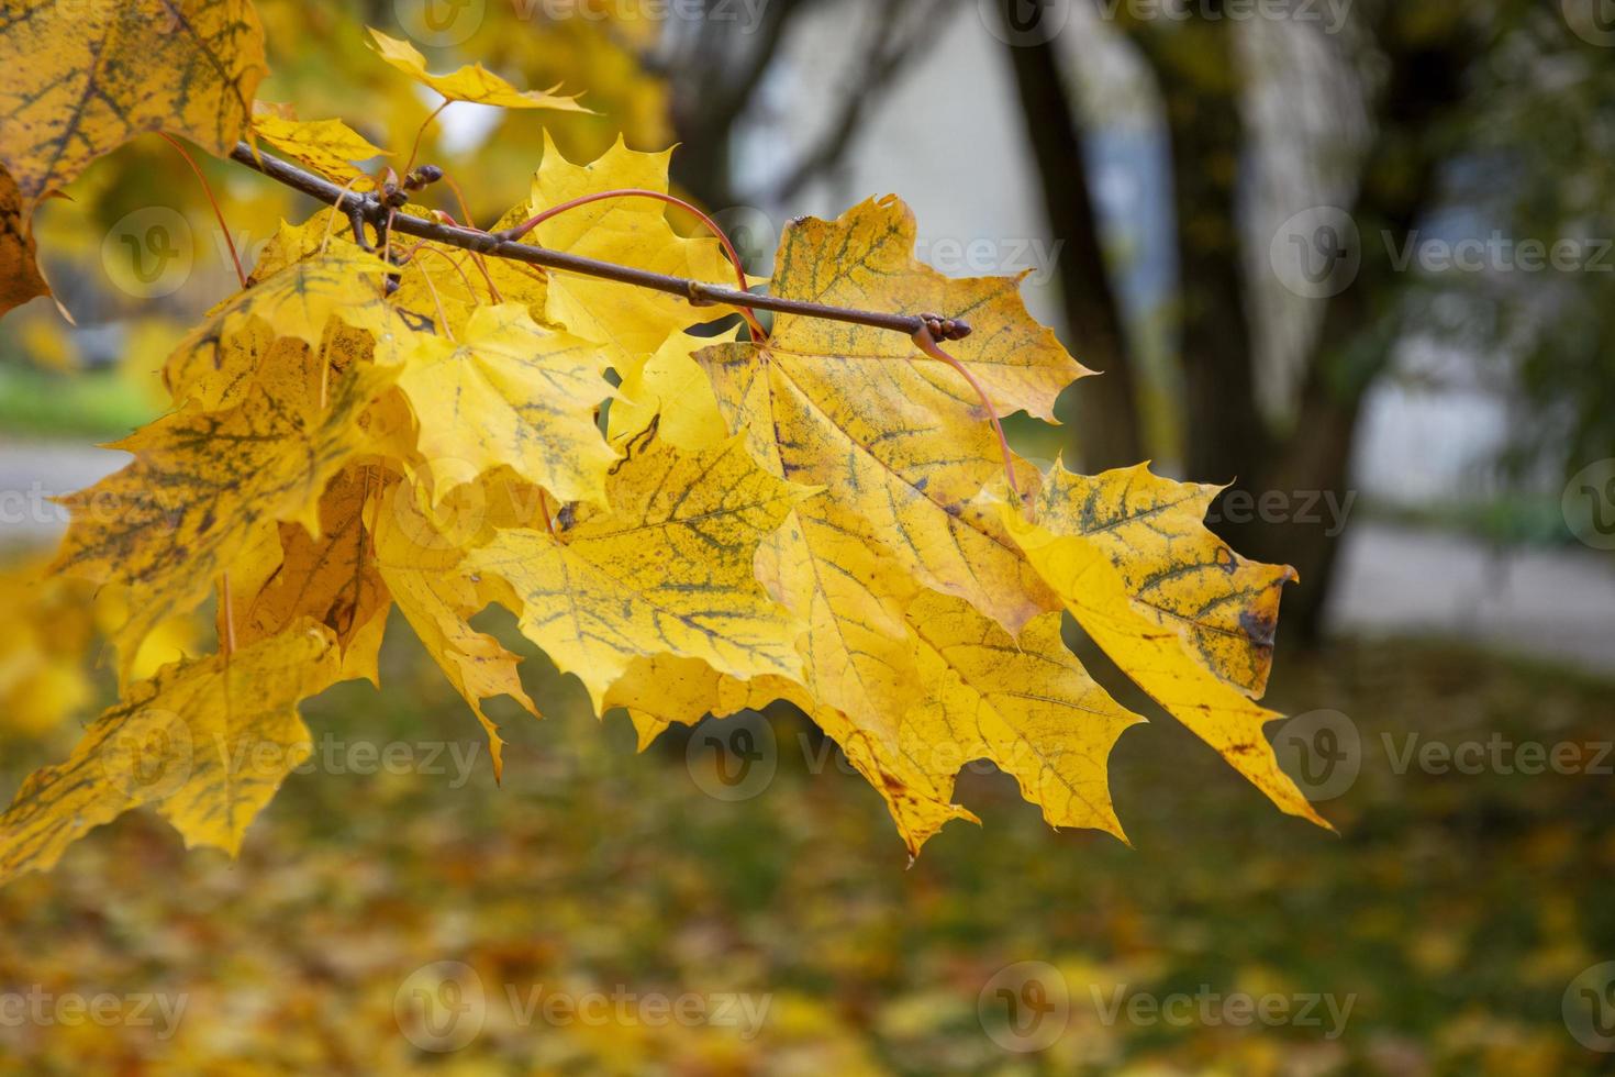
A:
POLYGON ((617 459, 594 412, 610 394, 599 346, 538 326, 520 304, 480 307, 459 342, 423 336, 399 376, 434 489, 509 465, 562 501, 602 501, 617 459))

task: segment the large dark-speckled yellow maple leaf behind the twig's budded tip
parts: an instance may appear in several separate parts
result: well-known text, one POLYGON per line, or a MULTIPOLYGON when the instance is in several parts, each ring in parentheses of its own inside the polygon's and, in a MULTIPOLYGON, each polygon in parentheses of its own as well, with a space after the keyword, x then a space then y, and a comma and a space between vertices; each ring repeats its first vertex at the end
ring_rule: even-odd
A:
MULTIPOLYGON (((912 218, 896 200, 866 202, 833 223, 793 221, 772 291, 903 313, 990 295, 967 308, 975 333, 964 344, 996 339, 1005 355, 1024 349, 1040 358, 1022 365, 993 360, 993 349, 977 355, 959 347, 961 358, 996 363, 998 384, 1014 389, 1000 410, 1050 410, 1053 383, 1080 368, 1013 299, 1014 281, 919 273, 898 262, 893 242, 911 262, 912 218), (972 287, 953 297, 951 286, 972 287)), ((753 454, 782 478, 824 486, 828 502, 866 522, 861 538, 874 538, 900 572, 969 601, 1011 633, 1055 609, 996 515, 974 505, 982 486, 1003 473, 1003 455, 985 409, 951 368, 901 334, 801 316, 778 318, 764 344, 711 347, 696 360, 730 428, 751 431, 753 454)), ((846 552, 827 544, 812 557, 833 565, 846 552)))

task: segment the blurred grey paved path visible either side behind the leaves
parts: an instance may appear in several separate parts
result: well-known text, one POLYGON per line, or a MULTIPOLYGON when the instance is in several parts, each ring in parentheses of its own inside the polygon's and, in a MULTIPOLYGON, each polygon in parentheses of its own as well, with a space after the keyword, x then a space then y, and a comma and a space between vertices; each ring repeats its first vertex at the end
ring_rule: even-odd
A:
MULTIPOLYGON (((53 543, 47 496, 89 486, 129 457, 82 444, 0 439, 0 547, 53 543)), ((1615 555, 1494 549, 1444 531, 1358 522, 1347 531, 1334 631, 1439 635, 1615 670, 1615 555)))

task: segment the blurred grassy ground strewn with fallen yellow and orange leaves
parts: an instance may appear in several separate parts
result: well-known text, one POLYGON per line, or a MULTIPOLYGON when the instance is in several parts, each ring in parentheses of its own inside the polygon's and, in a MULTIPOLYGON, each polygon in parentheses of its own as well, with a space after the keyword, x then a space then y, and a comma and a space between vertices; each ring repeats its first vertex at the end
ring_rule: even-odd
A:
MULTIPOLYGON (((724 786, 688 764, 691 735, 635 756, 620 712, 602 736, 580 686, 536 675, 535 659, 547 717, 494 709, 509 735, 496 788, 481 731, 417 644, 396 633, 384 664, 386 693, 349 683, 305 709, 315 764, 237 862, 187 856, 132 812, 53 874, 0 890, 10 996, 110 993, 128 1017, 131 998, 158 995, 145 1022, 74 1020, 55 1001, 45 1020, 8 1017, 0 1069, 1607 1072, 1610 1056, 1567 1030, 1562 998, 1615 958, 1615 785, 1397 773, 1394 756, 1412 733, 1607 738, 1609 683, 1429 644, 1287 656, 1271 701, 1337 709, 1361 733, 1360 777, 1321 806, 1342 836, 1274 814, 1163 717, 1114 759, 1134 849, 1053 833, 1011 780, 967 773, 959 796, 988 828, 954 823, 904 870, 880 798, 790 715, 772 715, 774 778, 727 801, 703 791, 724 786), (486 991, 454 1051, 423 1050, 396 1016, 412 974, 441 961, 486 991), (1027 961, 1058 970, 1069 1016, 1035 1043, 1011 1037, 1043 1048, 1021 1053, 993 1038, 988 1011, 1001 970, 1027 961), (591 993, 630 1001, 604 1020, 531 1006, 591 993), (1321 1008, 1318 1024, 1266 1027, 1200 1001, 1234 993, 1329 995, 1350 1012, 1340 1029, 1321 1008), (766 1011, 748 1035, 656 1020, 644 999, 659 995, 766 1011), (1106 1017, 1116 998, 1174 995, 1197 1016, 1106 1017), (176 999, 168 1022, 158 1004, 176 999)), ((53 751, 8 746, 6 788, 53 751)))

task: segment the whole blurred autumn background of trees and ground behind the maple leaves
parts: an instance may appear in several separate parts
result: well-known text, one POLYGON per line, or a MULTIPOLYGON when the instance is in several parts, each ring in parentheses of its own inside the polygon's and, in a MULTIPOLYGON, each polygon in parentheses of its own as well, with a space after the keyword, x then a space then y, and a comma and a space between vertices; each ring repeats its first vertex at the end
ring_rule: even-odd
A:
MULTIPOLYGON (((0 1061, 42 1074, 1609 1072, 1560 1014, 1565 983, 1615 959, 1609 777, 1397 773, 1382 740, 1610 736, 1615 602, 1600 596, 1615 568, 1576 544, 1562 492, 1615 459, 1615 270, 1431 273, 1394 258, 1494 234, 1591 254, 1615 234, 1615 34, 1578 21, 1579 0, 1339 0, 1273 19, 1218 0, 1182 19, 1101 0, 426 2, 439 37, 422 34, 438 23, 422 23, 420 0, 257 0, 273 69, 260 98, 341 116, 402 160, 438 102, 363 48, 363 26, 415 37, 434 69, 481 61, 560 84, 596 115, 455 105, 425 128, 420 158, 449 171, 472 220, 526 195, 546 129, 572 160, 619 132, 640 150, 677 142, 677 187, 735 233, 754 273, 787 216, 898 191, 935 249, 985 239, 998 252, 985 271, 1034 270, 1034 308, 1105 371, 1072 389, 1064 428, 1016 425, 1029 455, 1153 457, 1258 497, 1361 494, 1340 520, 1218 525, 1302 572, 1269 699, 1355 722, 1363 777, 1323 806, 1342 838, 1279 817, 1132 699, 1153 720, 1116 756, 1137 848, 1050 833, 1011 782, 972 770, 959 798, 987 832, 956 825, 904 870, 879 799, 825 762, 799 715, 770 714, 774 783, 725 803, 691 780, 685 740, 635 757, 622 715, 596 728, 577 683, 535 656, 528 686, 547 717, 499 715, 502 790, 483 757, 465 788, 302 773, 239 862, 187 856, 136 814, 0 891, 0 991, 191 999, 173 1040, 8 1025, 0 1061), (1026 32, 1037 13, 1064 29, 1026 32), (1326 299, 1287 287, 1269 252, 1316 207, 1358 233, 1360 268, 1326 299), (1026 265, 1005 255, 1019 241, 1053 242, 1026 265), (1410 526, 1442 536, 1429 560, 1399 560, 1410 526), (1549 560, 1521 562, 1520 546, 1549 560), (1449 601, 1465 559, 1481 565, 1473 606, 1449 601), (1400 575, 1374 589, 1365 565, 1400 575), (1529 583, 1510 593, 1515 573, 1529 583), (1546 660, 1408 641, 1387 597, 1452 607, 1449 635, 1487 614, 1500 628, 1476 635, 1546 660), (1592 668, 1555 660, 1571 649, 1592 668), (392 1017, 399 982, 439 959, 491 987, 754 991, 774 1009, 749 1041, 491 1014, 439 1058, 392 1017), (1038 1054, 984 1033, 977 995, 1016 961, 1072 985, 1071 1027, 1038 1054), (1336 1040, 1106 1025, 1089 987, 1111 983, 1353 995, 1357 1009, 1336 1040)), ((202 168, 249 262, 312 208, 239 166, 202 168)), ((36 224, 76 326, 37 300, 0 333, 8 497, 115 467, 66 446, 153 417, 173 342, 234 291, 212 208, 160 139, 97 161, 68 194, 36 224), (171 237, 189 260, 163 294, 129 276, 121 245, 153 221, 184 229, 171 237)), ((110 699, 97 630, 120 617, 116 594, 42 576, 57 520, 23 517, 0 531, 5 793, 110 699)), ((176 622, 141 664, 212 649, 200 618, 176 622)), ((464 707, 397 635, 386 685, 328 693, 310 728, 475 751, 464 707)))

